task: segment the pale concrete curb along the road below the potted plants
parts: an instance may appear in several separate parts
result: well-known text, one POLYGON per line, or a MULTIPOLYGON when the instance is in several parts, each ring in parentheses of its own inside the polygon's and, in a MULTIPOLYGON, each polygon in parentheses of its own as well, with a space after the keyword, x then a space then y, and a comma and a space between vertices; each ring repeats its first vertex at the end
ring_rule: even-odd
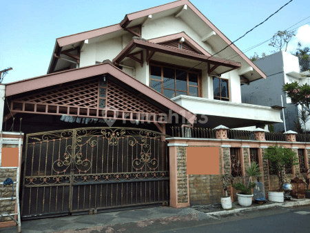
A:
POLYGON ((247 212, 252 210, 265 210, 271 207, 293 207, 293 206, 300 206, 300 205, 310 205, 310 199, 309 200, 302 200, 302 201, 293 201, 293 202, 287 202, 287 203, 273 203, 270 205, 260 205, 255 207, 245 207, 240 208, 236 210, 223 210, 219 212, 213 212, 213 213, 206 213, 207 216, 222 216, 227 214, 235 214, 239 212, 247 212))

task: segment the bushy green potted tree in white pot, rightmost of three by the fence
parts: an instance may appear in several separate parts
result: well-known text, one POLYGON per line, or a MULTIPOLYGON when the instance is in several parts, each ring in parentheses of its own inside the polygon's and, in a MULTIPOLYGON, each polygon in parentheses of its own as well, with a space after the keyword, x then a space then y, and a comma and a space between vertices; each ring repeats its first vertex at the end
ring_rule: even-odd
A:
MULTIPOLYGON (((279 179, 279 189, 268 192, 269 201, 284 202, 284 185, 287 183, 285 168, 289 165, 297 165, 296 152, 282 145, 271 145, 265 150, 264 159, 269 161, 269 170, 276 173, 279 179)), ((289 182, 288 182, 289 183, 289 182)))

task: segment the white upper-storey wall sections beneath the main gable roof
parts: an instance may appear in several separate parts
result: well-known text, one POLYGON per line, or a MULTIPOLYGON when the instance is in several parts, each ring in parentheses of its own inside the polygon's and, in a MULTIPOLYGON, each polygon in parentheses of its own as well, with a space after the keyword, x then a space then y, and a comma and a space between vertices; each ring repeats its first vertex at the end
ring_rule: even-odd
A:
MULTIPOLYGON (((212 53, 211 46, 208 43, 202 42, 200 35, 192 30, 182 19, 176 18, 174 16, 169 16, 161 19, 152 19, 147 23, 146 26, 142 28, 142 38, 152 39, 157 37, 167 36, 169 34, 176 34, 179 32, 185 32, 189 37, 191 37, 196 43, 198 43, 202 48, 207 50, 207 52, 212 53)), ((105 59, 110 59, 112 61, 123 48, 132 40, 134 35, 127 33, 121 37, 114 37, 101 42, 89 43, 84 45, 81 51, 81 63, 80 67, 87 65, 94 65, 96 61, 104 61, 105 59)), ((154 56, 154 59, 157 54, 154 56)), ((165 57, 165 55, 160 54, 161 61, 171 63, 170 57, 165 57)), ((144 60, 146 57, 146 52, 143 54, 144 60)), ((191 61, 184 61, 181 58, 175 58, 174 63, 177 65, 183 65, 187 67, 194 66, 191 61)), ((134 62, 133 66, 135 70, 135 77, 145 85, 149 85, 149 66, 145 61, 143 61, 143 68, 141 68, 140 63, 134 62)), ((134 70, 130 68, 123 68, 123 71, 127 74, 134 76, 134 70)), ((238 71, 234 70, 222 75, 222 78, 229 80, 229 99, 231 102, 241 103, 241 92, 240 92, 240 77, 238 71)), ((203 71, 202 77, 203 85, 203 97, 207 99, 214 99, 213 97, 213 81, 212 77, 208 77, 207 70, 203 71)))

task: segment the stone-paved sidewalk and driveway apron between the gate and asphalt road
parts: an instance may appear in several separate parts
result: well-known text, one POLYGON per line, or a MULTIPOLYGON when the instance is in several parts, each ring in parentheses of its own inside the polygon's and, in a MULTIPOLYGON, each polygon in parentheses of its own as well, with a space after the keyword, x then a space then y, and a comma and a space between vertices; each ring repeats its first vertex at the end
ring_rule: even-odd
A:
MULTIPOLYGON (((126 232, 127 227, 143 228, 155 223, 167 225, 172 222, 200 221, 203 219, 219 219, 220 216, 237 212, 262 210, 271 207, 292 207, 310 205, 310 199, 285 201, 285 203, 268 202, 263 205, 254 203, 251 207, 241 207, 233 203, 231 210, 223 210, 220 204, 196 205, 175 209, 172 207, 149 207, 136 210, 123 210, 94 215, 63 216, 50 219, 37 219, 21 222, 22 233, 39 232, 126 232)), ((0 232, 17 232, 17 227, 0 228, 0 232)))

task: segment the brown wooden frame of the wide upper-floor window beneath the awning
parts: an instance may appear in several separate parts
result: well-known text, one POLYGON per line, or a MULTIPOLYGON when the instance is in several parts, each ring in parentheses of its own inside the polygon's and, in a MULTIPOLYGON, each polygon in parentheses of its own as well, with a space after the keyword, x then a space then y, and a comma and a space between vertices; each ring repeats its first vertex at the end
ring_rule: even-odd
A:
POLYGON ((198 89, 198 97, 203 97, 203 92, 202 92, 202 71, 201 70, 197 70, 197 69, 192 69, 189 70, 190 68, 185 67, 185 66, 180 66, 180 65, 174 65, 174 64, 170 64, 170 63, 160 63, 160 62, 156 62, 156 61, 150 61, 149 63, 149 87, 152 88, 151 86, 151 81, 161 81, 161 94, 164 94, 164 90, 174 90, 174 94, 176 94, 176 92, 184 92, 183 90, 177 90, 176 89, 176 70, 184 70, 186 71, 186 82, 187 82, 187 91, 186 91, 186 95, 189 96, 189 87, 194 87, 198 89), (151 66, 156 66, 158 68, 161 68, 161 79, 152 79, 151 78, 151 66), (163 85, 163 68, 171 68, 174 69, 174 89, 172 88, 164 88, 163 85), (187 71, 189 70, 189 71, 187 71), (197 74, 198 75, 198 83, 197 85, 189 85, 189 74, 197 74))

